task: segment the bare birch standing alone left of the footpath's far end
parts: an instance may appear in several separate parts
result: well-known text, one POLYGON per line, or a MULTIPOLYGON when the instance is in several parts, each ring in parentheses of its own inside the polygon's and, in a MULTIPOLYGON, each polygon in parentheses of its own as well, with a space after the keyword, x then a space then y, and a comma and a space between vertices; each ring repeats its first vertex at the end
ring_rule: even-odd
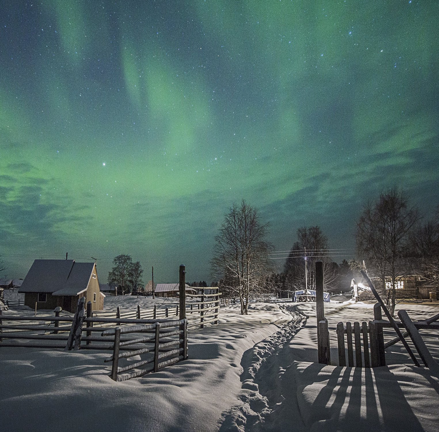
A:
POLYGON ((248 315, 248 296, 260 291, 270 269, 267 229, 256 209, 242 200, 241 205, 230 207, 215 237, 212 275, 221 281, 222 289, 239 297, 242 315, 248 315))

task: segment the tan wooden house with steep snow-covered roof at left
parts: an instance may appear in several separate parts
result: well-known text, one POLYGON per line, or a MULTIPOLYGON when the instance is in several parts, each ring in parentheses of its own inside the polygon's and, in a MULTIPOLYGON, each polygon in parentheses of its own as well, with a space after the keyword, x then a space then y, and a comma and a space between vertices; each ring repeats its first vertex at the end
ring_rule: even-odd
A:
POLYGON ((92 310, 104 309, 105 295, 99 289, 96 263, 76 263, 74 259, 36 259, 18 292, 32 309, 57 306, 75 312, 79 298, 91 302, 92 310))

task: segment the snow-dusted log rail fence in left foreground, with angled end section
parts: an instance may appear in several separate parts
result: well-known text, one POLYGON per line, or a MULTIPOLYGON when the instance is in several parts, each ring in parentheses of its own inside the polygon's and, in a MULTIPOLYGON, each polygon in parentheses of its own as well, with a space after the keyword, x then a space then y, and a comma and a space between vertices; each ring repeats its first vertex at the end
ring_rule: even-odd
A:
POLYGON ((149 319, 128 317, 92 317, 91 302, 87 303, 86 314, 84 303, 84 297, 79 299, 73 317, 59 316, 60 310, 53 318, 7 315, 2 314, 0 310, 0 347, 112 350, 111 359, 116 360, 113 362, 111 377, 117 381, 158 371, 162 367, 187 358, 186 318, 182 320, 156 319, 151 322, 149 319), (124 324, 124 327, 106 327, 121 324, 124 324), (177 329, 173 329, 175 327, 177 329), (116 329, 119 330, 116 332, 116 329), (121 338, 121 332, 126 336, 121 338), (5 342, 3 339, 11 342, 5 342), (179 345, 178 349, 173 348, 176 345, 179 345), (120 353, 120 351, 124 352, 120 353), (152 359, 147 358, 131 366, 118 367, 121 358, 147 353, 151 353, 152 359), (154 365, 152 369, 135 370, 130 374, 118 375, 151 363, 154 365))

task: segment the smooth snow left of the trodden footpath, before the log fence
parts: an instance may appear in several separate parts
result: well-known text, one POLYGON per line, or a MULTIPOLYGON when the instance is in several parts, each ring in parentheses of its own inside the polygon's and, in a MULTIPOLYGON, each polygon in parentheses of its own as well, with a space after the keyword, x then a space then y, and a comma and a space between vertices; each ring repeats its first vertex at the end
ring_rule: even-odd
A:
POLYGON ((189 360, 128 382, 108 377, 108 353, 2 348, 2 431, 218 430, 241 391, 243 354, 291 320, 277 304, 250 309, 221 308, 218 326, 189 335, 189 360))

